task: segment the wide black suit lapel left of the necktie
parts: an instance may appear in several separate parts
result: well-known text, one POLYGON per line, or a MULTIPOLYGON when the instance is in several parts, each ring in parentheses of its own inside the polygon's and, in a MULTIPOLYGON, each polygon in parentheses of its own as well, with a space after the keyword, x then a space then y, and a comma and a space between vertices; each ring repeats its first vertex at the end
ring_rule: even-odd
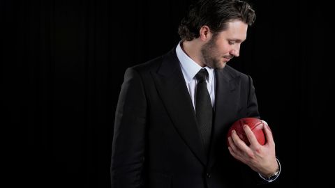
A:
POLYGON ((200 139, 195 111, 175 49, 163 56, 161 68, 151 74, 174 127, 194 155, 205 165, 206 156, 200 139))

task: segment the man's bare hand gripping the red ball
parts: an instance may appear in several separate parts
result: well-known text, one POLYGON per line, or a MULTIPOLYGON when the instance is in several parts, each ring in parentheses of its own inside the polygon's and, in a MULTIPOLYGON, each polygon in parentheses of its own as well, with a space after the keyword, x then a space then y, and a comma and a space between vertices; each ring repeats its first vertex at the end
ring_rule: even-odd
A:
POLYGON ((267 123, 263 122, 264 126, 262 128, 267 139, 265 145, 260 145, 250 127, 244 125, 243 129, 246 132, 250 146, 247 146, 244 141, 239 139, 236 131, 233 130, 232 136, 228 138, 230 144, 228 150, 235 159, 250 166, 253 171, 260 173, 264 177, 269 177, 278 169, 278 163, 276 161, 274 138, 267 123))

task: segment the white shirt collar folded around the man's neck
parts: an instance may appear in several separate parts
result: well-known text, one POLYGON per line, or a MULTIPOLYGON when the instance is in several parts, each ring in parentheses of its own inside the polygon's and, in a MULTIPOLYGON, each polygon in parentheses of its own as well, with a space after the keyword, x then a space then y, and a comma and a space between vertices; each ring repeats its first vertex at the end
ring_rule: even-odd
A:
MULTIPOLYGON (((176 53, 177 53, 177 57, 179 59, 180 65, 181 65, 181 70, 184 73, 184 77, 186 79, 186 81, 189 83, 190 81, 192 81, 192 79, 195 77, 195 75, 199 72, 200 69, 202 69, 202 67, 200 65, 198 65, 198 63, 195 63, 195 61, 193 61, 193 59, 191 59, 185 52, 183 49, 181 49, 181 42, 179 42, 179 44, 177 45, 176 48, 176 53)), ((213 77, 213 72, 214 72, 214 68, 209 68, 209 67, 204 67, 207 69, 208 71, 208 75, 209 77, 207 78, 208 81, 212 80, 213 77)))

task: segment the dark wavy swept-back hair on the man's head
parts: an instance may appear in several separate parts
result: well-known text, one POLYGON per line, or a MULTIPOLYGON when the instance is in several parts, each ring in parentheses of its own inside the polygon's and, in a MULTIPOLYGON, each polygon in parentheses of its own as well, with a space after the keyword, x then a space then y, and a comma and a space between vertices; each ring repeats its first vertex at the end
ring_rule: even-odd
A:
POLYGON ((215 35, 227 29, 227 23, 233 19, 251 26, 255 18, 255 10, 246 1, 200 0, 192 5, 186 17, 181 19, 178 33, 181 40, 189 41, 200 36, 200 28, 204 25, 209 26, 215 35))

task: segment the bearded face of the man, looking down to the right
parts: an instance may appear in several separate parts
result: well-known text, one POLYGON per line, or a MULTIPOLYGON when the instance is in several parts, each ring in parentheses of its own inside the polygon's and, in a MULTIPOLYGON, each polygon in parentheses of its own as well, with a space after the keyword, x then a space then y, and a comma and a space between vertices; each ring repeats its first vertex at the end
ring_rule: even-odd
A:
POLYGON ((210 68, 224 68, 231 58, 239 56, 239 48, 246 40, 247 29, 248 24, 244 22, 228 22, 228 29, 212 36, 202 47, 203 63, 210 68))

